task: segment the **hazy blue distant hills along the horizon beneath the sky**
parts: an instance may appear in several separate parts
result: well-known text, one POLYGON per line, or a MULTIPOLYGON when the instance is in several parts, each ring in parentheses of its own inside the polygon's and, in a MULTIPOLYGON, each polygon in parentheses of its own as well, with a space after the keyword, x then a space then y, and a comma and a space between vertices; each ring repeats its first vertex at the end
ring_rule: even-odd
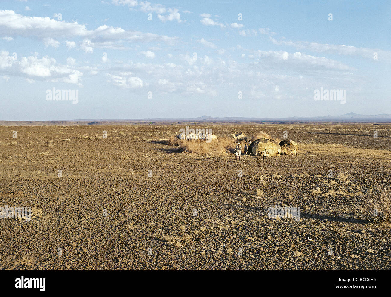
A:
POLYGON ((210 124, 309 124, 309 123, 391 123, 391 115, 382 113, 378 115, 362 115, 354 112, 344 115, 326 115, 324 117, 211 117, 203 115, 188 119, 80 119, 63 121, 0 121, 0 126, 74 126, 74 125, 148 125, 148 124, 185 124, 185 123, 210 123, 210 124))

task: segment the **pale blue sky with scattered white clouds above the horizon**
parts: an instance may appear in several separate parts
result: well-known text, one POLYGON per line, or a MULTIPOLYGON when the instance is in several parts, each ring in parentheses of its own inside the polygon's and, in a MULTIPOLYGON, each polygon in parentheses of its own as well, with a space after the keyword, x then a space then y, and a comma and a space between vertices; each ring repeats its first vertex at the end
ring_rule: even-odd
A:
POLYGON ((389 1, 1 1, 0 120, 391 113, 390 11, 389 1), (78 90, 77 104, 48 101, 52 88, 78 90), (320 88, 346 90, 346 103, 314 100, 320 88))

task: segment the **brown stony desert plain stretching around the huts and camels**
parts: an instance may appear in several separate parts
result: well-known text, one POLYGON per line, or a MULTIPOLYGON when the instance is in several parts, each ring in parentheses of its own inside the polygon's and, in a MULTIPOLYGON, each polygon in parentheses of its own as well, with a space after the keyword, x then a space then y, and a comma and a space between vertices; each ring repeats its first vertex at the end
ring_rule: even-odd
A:
POLYGON ((189 125, 299 146, 240 163, 170 144, 186 125, 0 126, 0 206, 32 209, 0 219, 0 269, 391 268, 364 203, 391 183, 391 125, 189 125))

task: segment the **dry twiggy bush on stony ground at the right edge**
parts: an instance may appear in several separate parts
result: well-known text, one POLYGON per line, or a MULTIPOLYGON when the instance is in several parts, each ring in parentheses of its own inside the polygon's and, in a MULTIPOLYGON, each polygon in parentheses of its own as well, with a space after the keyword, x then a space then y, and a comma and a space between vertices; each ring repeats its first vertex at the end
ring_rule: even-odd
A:
POLYGON ((389 224, 391 223, 391 187, 377 185, 376 190, 364 196, 364 212, 370 221, 389 224))

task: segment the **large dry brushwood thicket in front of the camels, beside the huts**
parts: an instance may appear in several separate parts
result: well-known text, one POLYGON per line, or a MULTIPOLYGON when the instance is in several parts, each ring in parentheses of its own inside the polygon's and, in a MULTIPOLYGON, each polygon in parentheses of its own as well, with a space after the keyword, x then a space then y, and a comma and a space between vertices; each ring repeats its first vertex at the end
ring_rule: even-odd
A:
POLYGON ((235 150, 235 142, 226 136, 219 137, 218 141, 206 142, 205 140, 181 140, 172 135, 167 143, 177 145, 179 151, 188 151, 189 153, 216 155, 233 153, 235 150))

